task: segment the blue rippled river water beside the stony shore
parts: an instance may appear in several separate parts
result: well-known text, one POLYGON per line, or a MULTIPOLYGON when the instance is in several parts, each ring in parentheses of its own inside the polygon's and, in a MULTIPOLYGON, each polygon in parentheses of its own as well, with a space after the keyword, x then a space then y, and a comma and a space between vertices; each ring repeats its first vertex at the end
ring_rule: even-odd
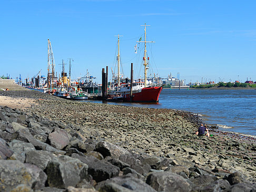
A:
POLYGON ((256 136, 256 89, 163 89, 159 104, 107 103, 186 110, 202 115, 205 123, 218 125, 220 130, 256 136))

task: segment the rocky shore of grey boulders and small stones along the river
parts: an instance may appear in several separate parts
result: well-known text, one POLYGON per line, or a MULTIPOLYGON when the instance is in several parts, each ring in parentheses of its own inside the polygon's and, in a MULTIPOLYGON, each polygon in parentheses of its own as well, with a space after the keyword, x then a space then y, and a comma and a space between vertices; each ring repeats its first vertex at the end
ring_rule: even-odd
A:
POLYGON ((0 107, 0 191, 256 191, 255 140, 198 137, 189 112, 0 96, 32 100, 0 107))

